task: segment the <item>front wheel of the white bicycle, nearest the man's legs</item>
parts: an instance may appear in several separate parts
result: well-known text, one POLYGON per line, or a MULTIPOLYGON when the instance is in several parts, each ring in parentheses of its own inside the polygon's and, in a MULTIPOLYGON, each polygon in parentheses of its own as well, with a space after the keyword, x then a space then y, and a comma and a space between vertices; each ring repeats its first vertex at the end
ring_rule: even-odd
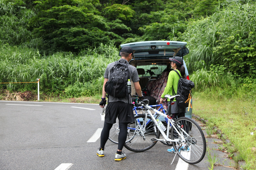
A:
POLYGON ((160 132, 156 126, 154 126, 154 122, 150 116, 147 118, 145 118, 145 115, 135 116, 134 125, 134 136, 131 141, 124 144, 124 147, 132 152, 143 152, 152 148, 157 142, 152 142, 152 140, 158 138, 160 132))

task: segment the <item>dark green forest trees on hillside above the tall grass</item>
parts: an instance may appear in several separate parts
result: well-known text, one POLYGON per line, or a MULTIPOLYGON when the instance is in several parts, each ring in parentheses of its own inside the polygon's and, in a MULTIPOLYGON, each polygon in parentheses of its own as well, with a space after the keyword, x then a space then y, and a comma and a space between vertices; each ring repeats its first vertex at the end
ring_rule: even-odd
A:
POLYGON ((50 54, 100 43, 178 38, 191 18, 211 15, 212 0, 1 0, 1 43, 50 54), (7 28, 7 29, 6 29, 7 28))

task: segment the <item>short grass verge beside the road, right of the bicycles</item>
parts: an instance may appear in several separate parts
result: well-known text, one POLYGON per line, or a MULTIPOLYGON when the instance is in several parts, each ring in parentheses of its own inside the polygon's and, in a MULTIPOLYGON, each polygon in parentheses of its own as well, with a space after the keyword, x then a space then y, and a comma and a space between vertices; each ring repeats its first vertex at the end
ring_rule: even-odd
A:
POLYGON ((256 103, 248 93, 225 98, 212 92, 194 93, 193 113, 208 120, 208 126, 216 126, 230 140, 229 152, 237 152, 236 162, 244 160, 244 169, 256 169, 256 103), (251 132, 253 132, 251 135, 251 132))

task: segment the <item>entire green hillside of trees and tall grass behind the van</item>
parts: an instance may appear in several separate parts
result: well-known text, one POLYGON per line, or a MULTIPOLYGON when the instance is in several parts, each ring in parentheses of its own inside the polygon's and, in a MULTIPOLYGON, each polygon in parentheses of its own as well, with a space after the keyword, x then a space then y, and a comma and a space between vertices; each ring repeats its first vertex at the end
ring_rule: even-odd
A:
POLYGON ((255 9, 255 0, 0 0, 0 82, 40 78, 45 94, 100 95, 120 44, 171 40, 188 43, 185 61, 197 90, 252 92, 255 9))

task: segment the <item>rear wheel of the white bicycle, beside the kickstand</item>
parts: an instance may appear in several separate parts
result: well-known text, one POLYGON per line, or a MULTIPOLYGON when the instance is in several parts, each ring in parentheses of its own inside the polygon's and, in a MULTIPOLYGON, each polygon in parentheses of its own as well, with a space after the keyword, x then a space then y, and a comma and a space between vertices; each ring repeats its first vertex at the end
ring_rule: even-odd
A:
MULTIPOLYGON (((172 142, 174 150, 178 152, 178 156, 189 164, 197 164, 204 159, 206 151, 206 142, 202 129, 192 119, 188 117, 180 117, 175 122, 177 131, 185 138, 186 143, 172 142), (182 129, 184 131, 182 131, 182 129), (182 148, 181 148, 182 147, 182 148)), ((181 139, 177 131, 172 127, 172 138, 181 139)))

